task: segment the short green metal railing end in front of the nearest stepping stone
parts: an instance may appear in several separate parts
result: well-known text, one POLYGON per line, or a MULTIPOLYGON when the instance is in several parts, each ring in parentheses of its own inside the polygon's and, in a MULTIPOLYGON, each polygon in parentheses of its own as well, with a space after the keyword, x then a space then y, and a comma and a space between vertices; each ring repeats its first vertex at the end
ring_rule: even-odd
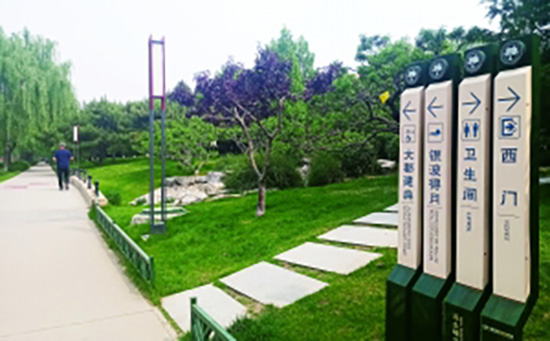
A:
POLYGON ((193 341, 236 341, 198 306, 196 297, 191 298, 191 339, 193 341))

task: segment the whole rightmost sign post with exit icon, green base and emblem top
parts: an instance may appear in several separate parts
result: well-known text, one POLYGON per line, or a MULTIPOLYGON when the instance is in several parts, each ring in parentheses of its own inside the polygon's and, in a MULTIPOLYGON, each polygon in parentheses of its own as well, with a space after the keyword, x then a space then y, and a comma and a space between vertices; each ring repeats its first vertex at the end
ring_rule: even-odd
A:
POLYGON ((494 86, 493 294, 483 340, 520 340, 538 298, 539 42, 505 42, 494 86))

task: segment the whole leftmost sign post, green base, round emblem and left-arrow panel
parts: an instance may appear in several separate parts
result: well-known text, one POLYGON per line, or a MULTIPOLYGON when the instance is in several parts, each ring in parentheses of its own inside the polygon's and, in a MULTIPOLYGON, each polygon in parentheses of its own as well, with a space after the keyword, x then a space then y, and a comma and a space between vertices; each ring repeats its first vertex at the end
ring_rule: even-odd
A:
POLYGON ((386 282, 386 340, 408 340, 411 289, 422 264, 422 166, 425 63, 405 70, 399 117, 399 234, 397 265, 386 282))

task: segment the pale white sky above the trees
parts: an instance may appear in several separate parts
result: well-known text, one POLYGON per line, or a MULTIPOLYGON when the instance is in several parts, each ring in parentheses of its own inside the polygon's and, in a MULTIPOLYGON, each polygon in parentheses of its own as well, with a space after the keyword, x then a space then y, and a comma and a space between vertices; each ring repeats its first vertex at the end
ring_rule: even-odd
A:
POLYGON ((5 33, 28 28, 54 40, 72 63, 79 101, 148 96, 147 40, 166 39, 166 87, 193 86, 232 57, 250 67, 283 27, 303 36, 315 67, 355 66, 360 34, 414 39, 421 28, 496 28, 479 0, 0 0, 5 33))

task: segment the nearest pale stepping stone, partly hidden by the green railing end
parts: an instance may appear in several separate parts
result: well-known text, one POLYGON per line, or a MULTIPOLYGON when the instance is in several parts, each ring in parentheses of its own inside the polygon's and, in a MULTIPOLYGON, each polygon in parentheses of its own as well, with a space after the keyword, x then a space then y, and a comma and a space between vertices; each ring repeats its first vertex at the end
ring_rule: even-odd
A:
POLYGON ((191 297, 224 328, 246 315, 245 306, 212 284, 164 297, 162 306, 184 332, 191 330, 191 297))

